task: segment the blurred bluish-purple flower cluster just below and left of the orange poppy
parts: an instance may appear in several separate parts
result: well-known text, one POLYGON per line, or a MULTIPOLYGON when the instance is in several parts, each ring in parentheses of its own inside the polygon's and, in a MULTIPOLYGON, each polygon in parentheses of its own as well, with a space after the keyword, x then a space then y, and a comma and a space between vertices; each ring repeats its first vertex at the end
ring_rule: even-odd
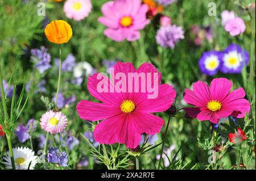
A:
POLYGON ((31 49, 32 61, 36 63, 36 68, 42 74, 44 71, 51 68, 49 64, 51 61, 51 55, 47 52, 47 49, 43 46, 40 49, 31 49))

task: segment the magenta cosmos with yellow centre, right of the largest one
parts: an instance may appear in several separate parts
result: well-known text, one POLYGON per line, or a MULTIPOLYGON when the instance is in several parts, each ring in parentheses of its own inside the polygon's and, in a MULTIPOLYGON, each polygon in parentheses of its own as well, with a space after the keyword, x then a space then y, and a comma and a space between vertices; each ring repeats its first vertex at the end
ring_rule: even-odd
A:
POLYGON ((243 99, 245 91, 242 88, 229 92, 232 83, 226 78, 214 78, 210 87, 205 82, 197 81, 193 91, 185 89, 184 100, 196 106, 184 108, 187 114, 200 121, 209 120, 216 124, 222 117, 244 117, 250 111, 250 103, 243 99))

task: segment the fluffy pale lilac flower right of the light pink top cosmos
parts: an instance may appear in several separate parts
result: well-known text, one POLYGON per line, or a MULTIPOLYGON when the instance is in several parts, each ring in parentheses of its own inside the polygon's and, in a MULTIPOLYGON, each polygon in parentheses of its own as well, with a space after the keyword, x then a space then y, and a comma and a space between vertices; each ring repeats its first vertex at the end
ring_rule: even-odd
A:
POLYGON ((177 27, 175 24, 161 27, 156 33, 156 42, 164 48, 174 49, 180 39, 184 39, 184 31, 182 27, 177 27))

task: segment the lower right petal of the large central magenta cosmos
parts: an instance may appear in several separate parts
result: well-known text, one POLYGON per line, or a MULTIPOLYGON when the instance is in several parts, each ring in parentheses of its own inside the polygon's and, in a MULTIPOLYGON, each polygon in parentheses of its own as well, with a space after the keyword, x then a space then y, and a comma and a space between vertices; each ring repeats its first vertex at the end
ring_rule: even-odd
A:
POLYGON ((162 118, 142 111, 135 111, 131 114, 131 121, 133 121, 134 128, 139 134, 153 135, 159 133, 164 125, 162 118))

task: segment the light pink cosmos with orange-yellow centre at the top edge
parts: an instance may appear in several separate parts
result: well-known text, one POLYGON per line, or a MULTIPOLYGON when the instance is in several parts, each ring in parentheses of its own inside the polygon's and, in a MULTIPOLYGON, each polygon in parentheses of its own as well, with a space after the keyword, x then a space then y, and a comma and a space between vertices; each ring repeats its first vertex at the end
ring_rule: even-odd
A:
POLYGON ((106 2, 102 8, 104 16, 98 22, 108 27, 104 34, 114 41, 135 41, 150 20, 146 19, 147 5, 141 0, 115 0, 106 2))

